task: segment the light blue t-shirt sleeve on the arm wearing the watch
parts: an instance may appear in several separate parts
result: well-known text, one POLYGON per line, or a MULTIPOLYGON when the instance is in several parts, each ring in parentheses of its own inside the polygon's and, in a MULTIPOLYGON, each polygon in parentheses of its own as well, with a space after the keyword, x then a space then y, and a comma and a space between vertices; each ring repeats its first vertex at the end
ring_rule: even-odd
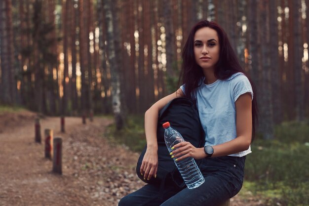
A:
POLYGON ((236 100, 240 95, 248 92, 251 94, 251 99, 253 99, 252 86, 245 75, 237 75, 232 81, 233 81, 232 95, 234 98, 234 102, 236 102, 236 100))

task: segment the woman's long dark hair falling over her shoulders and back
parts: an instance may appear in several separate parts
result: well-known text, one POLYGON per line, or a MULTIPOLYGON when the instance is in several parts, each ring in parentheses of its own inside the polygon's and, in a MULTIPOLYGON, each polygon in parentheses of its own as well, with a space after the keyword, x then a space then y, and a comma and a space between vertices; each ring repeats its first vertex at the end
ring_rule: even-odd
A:
POLYGON ((237 72, 243 73, 250 81, 254 98, 252 100, 252 141, 255 137, 255 128, 258 121, 257 95, 256 87, 250 77, 240 66, 237 56, 231 46, 225 31, 215 22, 202 20, 195 24, 189 34, 188 40, 185 43, 182 52, 183 64, 179 78, 179 83, 186 84, 185 96, 195 100, 193 90, 201 83, 201 78, 204 77, 202 68, 196 64, 194 58, 194 35, 197 30, 203 27, 209 27, 216 30, 220 44, 220 57, 215 65, 215 77, 219 80, 226 80, 237 72))

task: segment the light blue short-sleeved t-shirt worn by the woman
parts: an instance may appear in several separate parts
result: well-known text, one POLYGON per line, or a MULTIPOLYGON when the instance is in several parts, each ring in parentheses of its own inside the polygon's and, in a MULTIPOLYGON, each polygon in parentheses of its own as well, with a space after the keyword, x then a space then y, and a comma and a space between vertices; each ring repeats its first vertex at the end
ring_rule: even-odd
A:
MULTIPOLYGON (((247 92, 253 99, 251 84, 242 73, 233 74, 227 80, 217 80, 211 84, 203 82, 194 91, 199 118, 205 132, 205 145, 214 146, 231 141, 237 137, 235 101, 247 92)), ((180 88, 185 92, 184 85, 180 88)), ((251 147, 230 156, 242 157, 249 153, 251 147)))

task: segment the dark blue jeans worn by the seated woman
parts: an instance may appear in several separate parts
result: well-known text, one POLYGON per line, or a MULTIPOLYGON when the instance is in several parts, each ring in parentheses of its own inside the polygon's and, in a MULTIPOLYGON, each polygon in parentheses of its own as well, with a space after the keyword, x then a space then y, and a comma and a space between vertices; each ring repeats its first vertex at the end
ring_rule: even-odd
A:
POLYGON ((235 196, 242 187, 245 157, 203 159, 199 168, 205 182, 195 189, 179 190, 147 184, 123 197, 118 206, 218 206, 235 196))

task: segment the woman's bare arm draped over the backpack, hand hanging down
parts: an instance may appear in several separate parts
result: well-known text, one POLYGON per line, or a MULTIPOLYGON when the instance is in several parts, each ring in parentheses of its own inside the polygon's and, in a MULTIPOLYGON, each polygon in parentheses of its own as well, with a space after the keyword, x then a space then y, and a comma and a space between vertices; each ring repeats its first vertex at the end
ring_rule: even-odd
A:
POLYGON ((159 111, 172 99, 183 96, 184 94, 182 90, 178 89, 176 92, 167 95, 154 103, 154 105, 151 106, 145 113, 147 150, 141 165, 141 174, 144 175, 144 179, 150 179, 152 176, 156 176, 158 165, 156 129, 159 111))

